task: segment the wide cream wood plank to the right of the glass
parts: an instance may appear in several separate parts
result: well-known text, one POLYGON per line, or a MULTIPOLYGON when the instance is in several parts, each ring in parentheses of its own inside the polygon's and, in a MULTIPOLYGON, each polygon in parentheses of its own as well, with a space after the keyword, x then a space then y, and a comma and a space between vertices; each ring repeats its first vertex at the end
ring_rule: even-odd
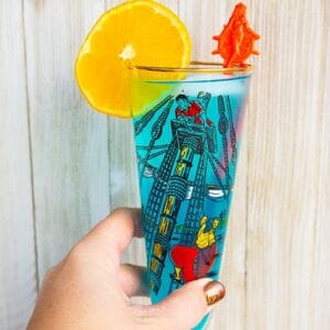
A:
POLYGON ((329 287, 330 266, 316 267, 330 239, 324 232, 316 240, 329 221, 329 176, 320 176, 329 166, 324 6, 262 1, 254 13, 264 42, 249 121, 246 329, 329 329, 330 295, 317 288, 329 287))

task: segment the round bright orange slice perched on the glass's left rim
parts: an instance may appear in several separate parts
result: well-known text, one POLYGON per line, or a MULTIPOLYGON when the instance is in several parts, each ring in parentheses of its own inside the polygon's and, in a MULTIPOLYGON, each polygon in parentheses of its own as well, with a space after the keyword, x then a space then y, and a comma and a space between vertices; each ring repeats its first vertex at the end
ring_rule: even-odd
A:
POLYGON ((132 67, 188 66, 190 53, 189 34, 174 12, 153 0, 127 1, 101 15, 89 32, 77 56, 76 79, 92 108, 129 118, 162 94, 155 89, 132 102, 132 67))

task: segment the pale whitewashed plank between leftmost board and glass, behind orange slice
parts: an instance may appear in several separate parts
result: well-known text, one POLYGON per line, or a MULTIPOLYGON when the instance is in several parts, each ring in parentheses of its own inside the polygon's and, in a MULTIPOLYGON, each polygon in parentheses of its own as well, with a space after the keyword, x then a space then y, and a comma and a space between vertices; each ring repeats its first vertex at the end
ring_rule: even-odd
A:
POLYGON ((25 35, 38 273, 109 212, 107 117, 74 81, 82 38, 103 1, 26 1, 25 35))

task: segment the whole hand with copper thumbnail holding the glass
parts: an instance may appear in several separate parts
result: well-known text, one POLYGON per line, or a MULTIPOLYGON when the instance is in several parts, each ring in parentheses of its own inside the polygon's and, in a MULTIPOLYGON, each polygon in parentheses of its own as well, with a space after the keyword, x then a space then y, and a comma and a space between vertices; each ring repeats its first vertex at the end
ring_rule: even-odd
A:
POLYGON ((145 295, 145 268, 121 265, 133 237, 142 238, 139 209, 118 209, 80 240, 43 282, 28 330, 191 329, 224 296, 208 278, 186 284, 157 305, 145 295), (209 305, 209 306, 208 306, 209 305))

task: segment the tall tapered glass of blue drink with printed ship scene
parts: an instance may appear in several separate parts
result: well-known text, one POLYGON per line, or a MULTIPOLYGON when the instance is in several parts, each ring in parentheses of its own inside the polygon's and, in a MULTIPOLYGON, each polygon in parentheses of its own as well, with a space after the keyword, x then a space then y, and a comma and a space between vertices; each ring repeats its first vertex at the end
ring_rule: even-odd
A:
POLYGON ((155 95, 133 119, 155 304, 190 280, 219 278, 251 68, 135 69, 140 95, 155 95))

